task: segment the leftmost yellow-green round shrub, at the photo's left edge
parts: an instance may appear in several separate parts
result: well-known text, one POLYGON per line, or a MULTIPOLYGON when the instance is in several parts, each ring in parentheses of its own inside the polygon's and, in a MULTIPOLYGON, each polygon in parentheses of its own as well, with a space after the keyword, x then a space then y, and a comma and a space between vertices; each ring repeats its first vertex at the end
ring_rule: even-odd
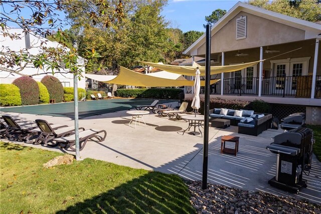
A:
POLYGON ((20 89, 14 84, 0 84, 0 105, 21 105, 20 89))

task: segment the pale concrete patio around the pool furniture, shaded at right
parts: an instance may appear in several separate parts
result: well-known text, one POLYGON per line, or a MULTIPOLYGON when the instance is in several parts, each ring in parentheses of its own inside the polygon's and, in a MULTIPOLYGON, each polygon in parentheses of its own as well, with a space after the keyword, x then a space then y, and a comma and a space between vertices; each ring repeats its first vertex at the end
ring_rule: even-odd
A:
MULTIPOLYGON (((2 114, 4 114, 2 112, 2 114)), ((65 117, 5 113, 24 120, 44 119, 54 124, 74 125, 65 117)), ((104 129, 106 140, 102 143, 89 141, 81 158, 94 158, 119 165, 147 170, 178 174, 192 180, 202 179, 203 138, 183 134, 188 123, 183 120, 169 120, 155 114, 143 116, 146 127, 141 123, 134 129, 128 126, 131 116, 126 111, 87 117, 79 121, 85 129, 104 129)), ((192 131, 192 130, 191 130, 192 131)), ((203 129, 202 129, 203 132, 203 129)), ((283 130, 268 130, 258 137, 237 133, 237 127, 209 129, 208 181, 246 190, 261 190, 281 196, 306 198, 321 203, 321 163, 313 156, 312 169, 307 179, 307 188, 297 195, 270 186, 267 181, 275 176, 276 155, 266 150, 273 142, 272 137, 283 130), (240 137, 237 156, 220 154, 221 136, 240 137)), ((8 140, 3 139, 8 142, 8 140)), ((35 148, 66 152, 59 148, 18 143, 35 148)), ((74 154, 74 152, 69 152, 74 154)))

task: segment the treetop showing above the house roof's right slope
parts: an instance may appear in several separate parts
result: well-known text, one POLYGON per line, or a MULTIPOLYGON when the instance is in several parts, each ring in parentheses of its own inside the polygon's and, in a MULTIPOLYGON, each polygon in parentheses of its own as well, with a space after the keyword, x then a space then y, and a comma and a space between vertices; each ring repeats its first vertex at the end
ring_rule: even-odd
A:
POLYGON ((321 3, 317 0, 249 0, 248 4, 309 22, 321 20, 321 3))

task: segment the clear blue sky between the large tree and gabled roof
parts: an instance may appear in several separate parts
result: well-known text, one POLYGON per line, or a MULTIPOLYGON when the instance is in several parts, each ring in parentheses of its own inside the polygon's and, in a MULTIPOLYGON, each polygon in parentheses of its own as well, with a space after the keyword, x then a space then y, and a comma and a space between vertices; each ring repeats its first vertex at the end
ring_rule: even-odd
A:
POLYGON ((205 17, 216 9, 229 11, 239 1, 229 0, 169 0, 162 16, 171 22, 171 28, 179 28, 183 33, 188 31, 203 31, 205 17))

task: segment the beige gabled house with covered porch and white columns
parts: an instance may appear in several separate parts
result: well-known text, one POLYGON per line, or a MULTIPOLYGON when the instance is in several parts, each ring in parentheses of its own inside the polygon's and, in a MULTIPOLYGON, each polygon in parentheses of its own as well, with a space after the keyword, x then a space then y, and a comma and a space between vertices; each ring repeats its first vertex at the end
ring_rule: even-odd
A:
MULTIPOLYGON (((243 70, 212 76, 221 81, 211 86, 211 97, 286 104, 292 111, 304 109, 307 123, 319 124, 320 40, 319 23, 237 3, 211 28, 211 59, 216 59, 213 65, 264 61, 243 70)), ((184 54, 205 57, 205 52, 204 34, 184 54)), ((192 96, 185 94, 185 97, 192 96)))

